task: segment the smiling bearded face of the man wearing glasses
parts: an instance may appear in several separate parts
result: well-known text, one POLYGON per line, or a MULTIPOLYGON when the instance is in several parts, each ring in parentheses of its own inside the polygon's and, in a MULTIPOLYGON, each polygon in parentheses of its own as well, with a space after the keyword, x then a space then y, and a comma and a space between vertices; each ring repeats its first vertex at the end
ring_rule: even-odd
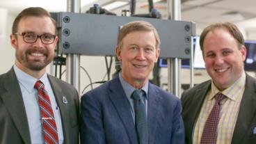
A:
MULTIPOLYGON (((35 35, 55 35, 55 26, 49 17, 24 17, 20 20, 17 33, 35 33, 35 35)), ((46 66, 54 58, 54 48, 58 38, 50 45, 42 43, 40 38, 36 42, 24 42, 22 35, 10 35, 11 45, 16 49, 15 64, 27 73, 45 72, 46 66)))

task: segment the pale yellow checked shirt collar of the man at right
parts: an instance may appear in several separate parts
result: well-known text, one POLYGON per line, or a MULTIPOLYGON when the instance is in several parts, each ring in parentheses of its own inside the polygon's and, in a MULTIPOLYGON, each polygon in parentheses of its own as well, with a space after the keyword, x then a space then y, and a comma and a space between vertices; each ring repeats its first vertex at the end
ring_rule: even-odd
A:
POLYGON ((214 95, 221 92, 223 95, 225 95, 227 98, 232 99, 234 101, 237 100, 239 95, 235 95, 237 93, 237 90, 241 90, 246 85, 246 72, 242 72, 241 77, 235 81, 232 86, 229 88, 226 88, 223 91, 218 90, 218 88, 215 86, 214 82, 211 80, 211 95, 209 97, 209 100, 214 98, 214 95), (234 90, 236 89, 236 90, 234 90))

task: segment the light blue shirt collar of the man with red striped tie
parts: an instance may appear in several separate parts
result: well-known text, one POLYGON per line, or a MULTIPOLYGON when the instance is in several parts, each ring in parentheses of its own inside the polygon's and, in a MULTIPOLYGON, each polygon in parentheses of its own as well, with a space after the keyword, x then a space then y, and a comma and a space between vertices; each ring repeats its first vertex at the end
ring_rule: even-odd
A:
POLYGON ((19 83, 29 92, 32 93, 34 90, 35 82, 40 80, 42 83, 47 82, 47 73, 42 75, 40 79, 35 79, 31 75, 27 74, 26 72, 22 71, 16 65, 13 65, 13 70, 15 71, 17 80, 19 83))

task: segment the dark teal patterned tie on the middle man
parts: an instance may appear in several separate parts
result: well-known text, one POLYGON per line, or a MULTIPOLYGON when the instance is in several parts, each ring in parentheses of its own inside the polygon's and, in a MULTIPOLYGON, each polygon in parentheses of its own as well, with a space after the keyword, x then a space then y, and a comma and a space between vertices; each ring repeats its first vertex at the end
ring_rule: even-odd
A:
POLYGON ((139 144, 148 143, 147 116, 143 96, 143 90, 134 90, 131 94, 131 97, 134 99, 135 127, 139 144))

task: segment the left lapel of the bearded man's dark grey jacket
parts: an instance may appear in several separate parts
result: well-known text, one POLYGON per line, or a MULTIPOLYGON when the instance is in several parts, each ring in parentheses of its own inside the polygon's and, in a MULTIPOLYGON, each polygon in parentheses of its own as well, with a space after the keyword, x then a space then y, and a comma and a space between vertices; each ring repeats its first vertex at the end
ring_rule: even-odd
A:
POLYGON ((22 136, 24 143, 31 143, 29 122, 26 117, 22 92, 19 88, 19 83, 13 68, 6 74, 6 78, 3 81, 3 88, 6 89, 6 93, 0 95, 3 99, 3 103, 6 105, 6 109, 8 109, 11 118, 13 118, 13 122, 19 134, 22 136))

